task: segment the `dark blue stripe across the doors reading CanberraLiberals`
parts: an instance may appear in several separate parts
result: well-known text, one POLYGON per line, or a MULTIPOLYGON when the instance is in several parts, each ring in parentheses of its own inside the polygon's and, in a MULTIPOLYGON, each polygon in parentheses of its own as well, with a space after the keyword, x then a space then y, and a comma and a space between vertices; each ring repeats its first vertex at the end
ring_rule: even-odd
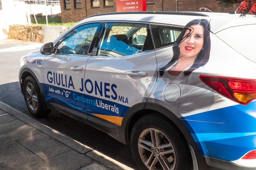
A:
POLYGON ((43 86, 45 100, 47 102, 61 103, 85 113, 123 117, 129 109, 128 106, 85 95, 84 93, 78 93, 48 84, 42 84, 43 86))

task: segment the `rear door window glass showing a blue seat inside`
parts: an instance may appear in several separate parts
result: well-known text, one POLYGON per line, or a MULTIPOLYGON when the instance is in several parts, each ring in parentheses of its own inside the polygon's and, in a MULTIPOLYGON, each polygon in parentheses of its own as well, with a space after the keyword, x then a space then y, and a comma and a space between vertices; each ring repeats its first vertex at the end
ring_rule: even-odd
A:
POLYGON ((97 56, 129 56, 141 53, 146 36, 145 24, 107 23, 97 56))

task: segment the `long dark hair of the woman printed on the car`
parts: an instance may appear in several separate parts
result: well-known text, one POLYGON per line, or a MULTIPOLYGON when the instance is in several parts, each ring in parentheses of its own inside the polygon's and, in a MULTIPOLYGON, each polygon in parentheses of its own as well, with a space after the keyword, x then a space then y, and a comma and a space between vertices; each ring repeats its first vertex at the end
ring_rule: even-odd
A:
MULTIPOLYGON (((204 66, 210 57, 210 50, 211 50, 211 39, 210 39, 210 24, 208 24, 208 20, 206 19, 195 19, 190 21, 189 23, 187 23, 187 25, 185 27, 190 27, 192 25, 202 25, 203 26, 203 48, 201 49, 201 51, 197 54, 197 57, 195 59, 194 64, 192 64, 192 66, 183 71, 184 75, 190 75, 190 73, 192 71, 194 71, 195 69, 204 66)), ((180 41, 184 41, 182 40, 185 33, 186 33, 187 29, 184 28, 181 31, 181 34, 178 36, 176 42, 180 42, 180 41)), ((175 61, 178 60, 179 58, 179 54, 180 54, 180 48, 179 48, 179 44, 176 44, 173 46, 173 58, 171 59, 171 61, 166 64, 164 67, 160 68, 160 76, 164 75, 164 71, 170 67, 175 61)))

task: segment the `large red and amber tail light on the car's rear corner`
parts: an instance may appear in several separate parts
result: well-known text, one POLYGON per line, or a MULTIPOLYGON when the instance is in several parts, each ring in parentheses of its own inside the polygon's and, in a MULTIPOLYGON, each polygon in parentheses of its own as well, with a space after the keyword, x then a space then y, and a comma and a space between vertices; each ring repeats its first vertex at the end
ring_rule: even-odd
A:
POLYGON ((221 95, 247 105, 256 99, 256 80, 199 75, 200 79, 221 95))

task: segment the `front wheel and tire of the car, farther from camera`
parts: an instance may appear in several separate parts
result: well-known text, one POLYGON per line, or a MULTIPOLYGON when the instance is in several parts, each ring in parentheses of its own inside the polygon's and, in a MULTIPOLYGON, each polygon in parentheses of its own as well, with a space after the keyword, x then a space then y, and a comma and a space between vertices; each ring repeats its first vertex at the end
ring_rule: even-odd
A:
POLYGON ((29 112, 35 117, 43 117, 50 113, 50 109, 44 109, 42 104, 41 91, 36 80, 28 76, 23 85, 23 95, 29 112))

